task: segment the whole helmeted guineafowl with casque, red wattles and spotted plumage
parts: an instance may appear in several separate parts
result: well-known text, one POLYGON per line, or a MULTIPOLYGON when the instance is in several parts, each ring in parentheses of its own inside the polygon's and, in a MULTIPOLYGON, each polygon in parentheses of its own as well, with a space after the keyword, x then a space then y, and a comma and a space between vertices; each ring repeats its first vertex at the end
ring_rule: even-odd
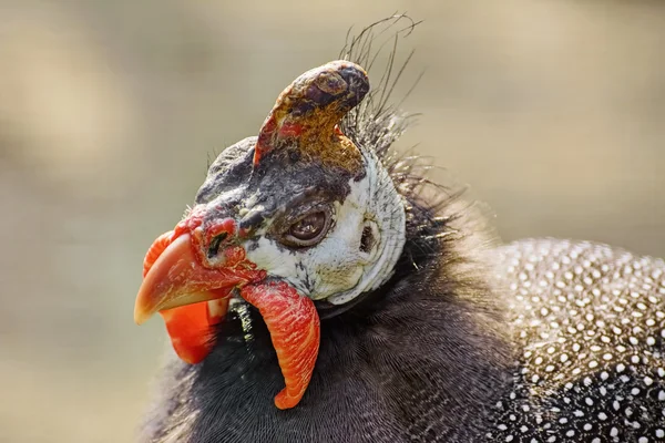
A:
POLYGON ((142 441, 665 441, 665 264, 501 245, 392 150, 382 82, 300 75, 155 240, 135 319, 176 354, 142 441))

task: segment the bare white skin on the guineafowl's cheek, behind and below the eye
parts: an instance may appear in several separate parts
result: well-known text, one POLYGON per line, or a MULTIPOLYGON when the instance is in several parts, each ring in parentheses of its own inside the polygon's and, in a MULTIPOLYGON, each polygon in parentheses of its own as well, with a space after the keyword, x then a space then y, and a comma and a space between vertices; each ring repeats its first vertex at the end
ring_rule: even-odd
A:
POLYGON ((332 207, 332 224, 315 246, 288 249, 278 239, 262 237, 247 247, 247 258, 268 275, 293 285, 314 300, 346 303, 378 288, 393 272, 403 245, 405 205, 376 155, 360 150, 365 177, 350 181, 350 194, 332 207), (368 250, 361 239, 371 230, 368 250))

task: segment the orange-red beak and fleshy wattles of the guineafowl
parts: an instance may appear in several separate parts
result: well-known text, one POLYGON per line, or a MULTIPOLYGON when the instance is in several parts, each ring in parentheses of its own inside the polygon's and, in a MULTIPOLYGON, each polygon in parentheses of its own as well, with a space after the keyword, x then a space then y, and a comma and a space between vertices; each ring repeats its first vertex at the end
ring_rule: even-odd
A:
POLYGON ((285 281, 265 281, 266 272, 257 270, 237 246, 223 251, 234 257, 225 266, 206 266, 197 250, 201 230, 193 233, 170 231, 154 241, 145 257, 134 320, 141 324, 160 312, 178 357, 198 363, 215 347, 212 327, 225 317, 231 292, 239 288, 241 296, 263 316, 277 352, 286 388, 275 398, 275 405, 295 406, 318 356, 320 330, 314 302, 285 281))

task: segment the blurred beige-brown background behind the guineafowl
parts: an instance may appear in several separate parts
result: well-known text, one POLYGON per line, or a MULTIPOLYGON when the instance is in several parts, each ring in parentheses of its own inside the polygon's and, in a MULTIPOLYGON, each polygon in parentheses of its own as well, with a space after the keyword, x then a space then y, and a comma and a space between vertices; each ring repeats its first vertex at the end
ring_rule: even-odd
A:
POLYGON ((256 134, 347 30, 424 19, 401 142, 507 240, 665 256, 665 2, 0 0, 0 442, 129 442, 165 348, 143 254, 207 154, 256 134))

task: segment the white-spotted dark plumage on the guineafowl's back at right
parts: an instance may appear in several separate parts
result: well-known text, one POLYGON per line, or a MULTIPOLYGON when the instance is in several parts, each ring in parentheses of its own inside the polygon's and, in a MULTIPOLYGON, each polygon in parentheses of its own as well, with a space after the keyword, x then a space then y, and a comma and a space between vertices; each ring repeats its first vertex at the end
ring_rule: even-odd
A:
POLYGON ((665 264, 591 243, 499 249, 521 356, 490 441, 665 441, 665 264))

